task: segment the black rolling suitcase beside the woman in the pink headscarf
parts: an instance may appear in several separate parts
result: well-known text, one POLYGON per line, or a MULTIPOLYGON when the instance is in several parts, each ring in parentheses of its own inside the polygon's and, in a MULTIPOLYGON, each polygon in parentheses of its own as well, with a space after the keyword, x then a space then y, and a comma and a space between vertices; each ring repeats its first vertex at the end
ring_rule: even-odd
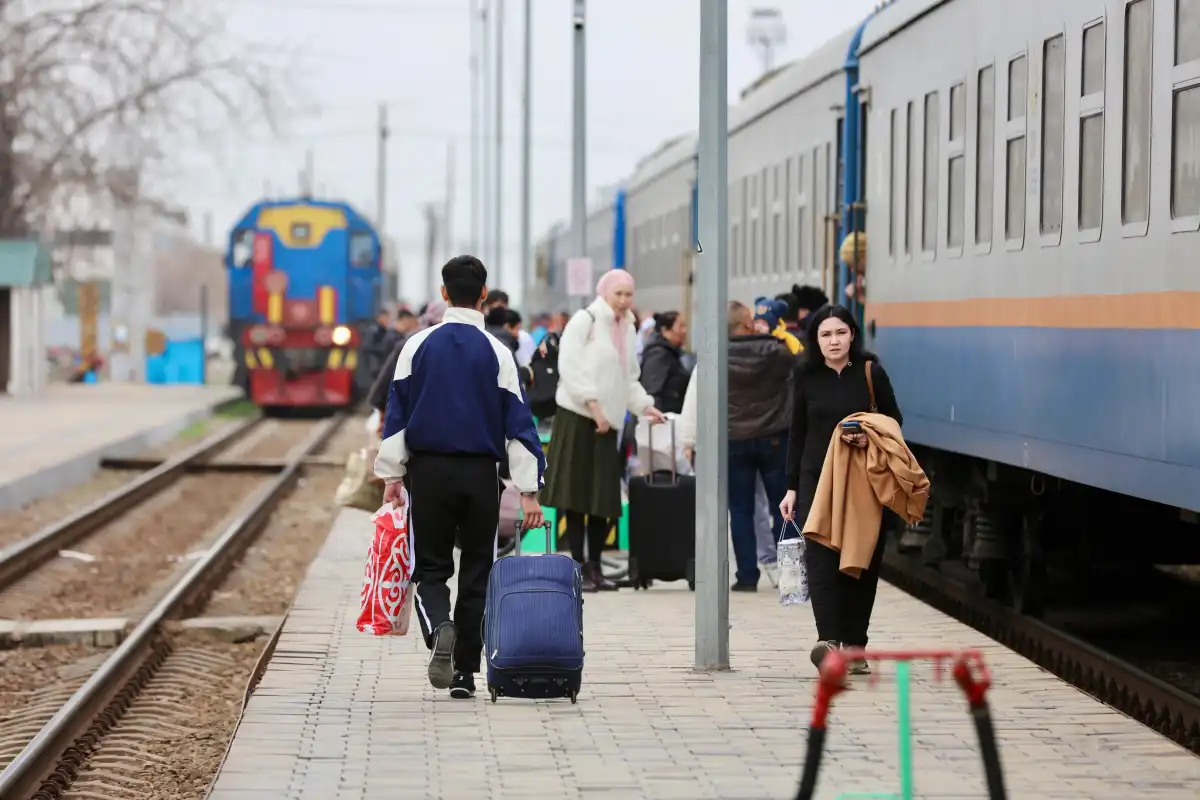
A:
MULTIPOLYGON (((673 456, 674 421, 667 425, 673 456)), ((653 456, 648 461, 653 467, 653 456)), ((686 581, 696 588, 696 479, 677 474, 673 457, 670 471, 629 481, 629 583, 647 589, 650 581, 686 581)))

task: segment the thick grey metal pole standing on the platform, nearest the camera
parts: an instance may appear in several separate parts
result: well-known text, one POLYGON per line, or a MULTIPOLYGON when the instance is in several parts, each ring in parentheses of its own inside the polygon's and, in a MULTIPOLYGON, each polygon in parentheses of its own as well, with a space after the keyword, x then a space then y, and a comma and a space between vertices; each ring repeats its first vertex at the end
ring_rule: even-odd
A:
POLYGON ((698 252, 696 264, 696 662, 730 668, 728 488, 728 2, 700 4, 698 252))

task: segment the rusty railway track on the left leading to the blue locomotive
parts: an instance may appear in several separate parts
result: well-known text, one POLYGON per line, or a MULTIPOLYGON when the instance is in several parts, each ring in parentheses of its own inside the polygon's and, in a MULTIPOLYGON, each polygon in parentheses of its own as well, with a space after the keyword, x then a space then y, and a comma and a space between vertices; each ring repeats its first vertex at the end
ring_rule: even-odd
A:
MULTIPOLYGON (((224 643, 224 651, 221 646, 188 645, 179 636, 176 620, 192 616, 205 606, 212 591, 222 584, 238 559, 264 529, 275 509, 295 487, 305 464, 328 461, 314 457, 314 453, 332 438, 343 419, 336 416, 305 428, 299 441, 283 449, 287 452, 284 458, 214 458, 230 443, 245 441, 262 425, 260 420, 251 419, 164 462, 112 459, 104 465, 142 468, 148 471, 121 489, 0 552, 0 590, 4 590, 36 571, 64 548, 91 536, 175 481, 197 480, 185 479, 188 473, 264 475, 265 486, 257 488, 234 515, 227 517, 227 524, 205 542, 204 549, 193 554, 196 558, 191 566, 152 599, 152 607, 137 619, 120 644, 107 654, 92 654, 73 667, 76 673, 82 673, 79 679, 83 674, 86 679, 82 682, 77 679, 70 684, 73 690, 70 697, 58 705, 61 697, 54 697, 53 693, 48 696, 53 698, 48 702, 58 708, 36 733, 31 732, 28 744, 0 774, 0 798, 42 800, 59 798, 68 792, 88 796, 86 786, 72 789, 76 776, 85 765, 91 771, 124 769, 122 762, 127 759, 122 751, 127 752, 127 748, 119 740, 130 736, 137 740, 139 716, 169 724, 174 714, 180 717, 179 723, 186 721, 186 704, 182 709, 164 708, 162 698, 172 697, 175 692, 179 699, 179 687, 188 676, 220 675, 222 670, 228 675, 245 674, 245 648, 238 651, 236 645, 229 642, 224 643), (143 691, 146 691, 149 700, 139 697, 143 691), (125 724, 124 732, 114 730, 122 722, 132 724, 125 724), (118 741, 101 752, 109 733, 115 733, 113 739, 118 741), (103 763, 89 765, 94 754, 103 763), (109 759, 115 760, 108 764, 109 759)), ((253 652, 257 654, 257 648, 253 652)), ((64 693, 60 690, 60 694, 64 693)), ((47 699, 42 698, 41 702, 44 705, 47 699)), ((154 757, 148 759, 151 765, 156 762, 154 757)), ((127 768, 128 764, 124 766, 127 768)), ((134 792, 133 796, 142 795, 134 792)))

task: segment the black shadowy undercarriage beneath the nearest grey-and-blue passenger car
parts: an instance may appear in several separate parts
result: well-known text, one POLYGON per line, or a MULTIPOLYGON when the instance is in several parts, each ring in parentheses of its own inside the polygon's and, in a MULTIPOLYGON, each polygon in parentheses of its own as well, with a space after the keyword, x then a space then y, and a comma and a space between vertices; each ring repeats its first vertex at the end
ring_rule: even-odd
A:
POLYGON ((1031 470, 913 447, 934 492, 889 548, 1040 615, 1056 588, 1098 572, 1200 564, 1196 515, 1031 470))

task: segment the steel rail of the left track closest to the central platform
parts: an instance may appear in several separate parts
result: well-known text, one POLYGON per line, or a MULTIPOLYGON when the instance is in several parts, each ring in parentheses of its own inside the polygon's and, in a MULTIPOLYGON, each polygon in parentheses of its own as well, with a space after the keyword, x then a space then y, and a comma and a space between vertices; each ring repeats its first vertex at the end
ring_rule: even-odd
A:
POLYGON ((260 491, 126 639, 0 772, 0 798, 61 796, 103 735, 170 652, 164 624, 203 604, 228 566, 263 529, 295 483, 304 459, 337 431, 343 416, 320 423, 288 467, 260 491))

